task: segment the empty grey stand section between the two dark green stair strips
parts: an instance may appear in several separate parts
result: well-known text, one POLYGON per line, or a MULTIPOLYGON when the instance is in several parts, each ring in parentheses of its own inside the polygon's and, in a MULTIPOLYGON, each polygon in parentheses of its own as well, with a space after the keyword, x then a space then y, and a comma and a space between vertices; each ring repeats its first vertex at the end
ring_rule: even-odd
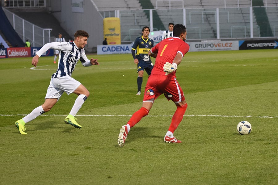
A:
MULTIPOLYGON (((221 38, 250 36, 248 7, 251 6, 251 0, 241 0, 239 3, 233 0, 151 0, 151 2, 158 8, 158 15, 165 27, 169 22, 183 23, 183 12, 180 9, 186 8, 188 38, 217 38, 216 7, 219 8, 221 38)), ((255 16, 253 16, 253 32, 256 37, 260 35, 255 16)))

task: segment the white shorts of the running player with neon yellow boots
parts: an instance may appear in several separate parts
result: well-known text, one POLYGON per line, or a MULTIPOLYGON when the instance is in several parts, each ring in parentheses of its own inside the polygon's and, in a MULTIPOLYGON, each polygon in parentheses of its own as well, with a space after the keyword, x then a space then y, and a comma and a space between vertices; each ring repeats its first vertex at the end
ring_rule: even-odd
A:
POLYGON ((63 76, 59 78, 51 78, 50 84, 47 88, 45 99, 57 98, 59 100, 61 95, 66 92, 68 95, 74 92, 79 86, 80 82, 70 76, 63 76))

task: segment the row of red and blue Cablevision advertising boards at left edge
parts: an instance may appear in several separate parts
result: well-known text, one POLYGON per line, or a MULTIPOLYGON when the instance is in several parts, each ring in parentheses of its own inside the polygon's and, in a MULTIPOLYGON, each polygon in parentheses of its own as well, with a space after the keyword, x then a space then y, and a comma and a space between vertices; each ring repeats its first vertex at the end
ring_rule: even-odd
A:
MULTIPOLYGON (((1 48, 0 58, 34 57, 40 47, 31 48, 1 48)), ((54 56, 53 49, 48 49, 41 57, 54 56)))

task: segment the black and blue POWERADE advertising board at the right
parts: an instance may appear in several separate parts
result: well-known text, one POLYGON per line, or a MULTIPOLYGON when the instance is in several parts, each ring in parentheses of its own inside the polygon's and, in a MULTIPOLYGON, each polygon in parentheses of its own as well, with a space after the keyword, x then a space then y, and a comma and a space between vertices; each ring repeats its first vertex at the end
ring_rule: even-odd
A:
POLYGON ((278 40, 239 40, 239 50, 278 49, 278 40))

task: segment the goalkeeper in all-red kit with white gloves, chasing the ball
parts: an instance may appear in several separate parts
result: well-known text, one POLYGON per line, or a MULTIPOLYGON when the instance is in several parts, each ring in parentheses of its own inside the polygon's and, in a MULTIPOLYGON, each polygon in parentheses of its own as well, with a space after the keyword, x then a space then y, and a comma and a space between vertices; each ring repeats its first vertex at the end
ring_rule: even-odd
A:
POLYGON ((145 87, 142 107, 132 115, 126 125, 120 128, 118 137, 120 147, 124 146, 130 128, 149 114, 154 100, 162 94, 168 101, 172 100, 177 106, 164 141, 166 143, 181 143, 174 137, 173 133, 183 119, 187 103, 183 90, 176 79, 176 69, 183 56, 188 52, 189 45, 185 43, 187 32, 184 25, 176 24, 173 33, 173 37, 162 40, 148 53, 149 56, 156 58, 154 68, 145 87))

